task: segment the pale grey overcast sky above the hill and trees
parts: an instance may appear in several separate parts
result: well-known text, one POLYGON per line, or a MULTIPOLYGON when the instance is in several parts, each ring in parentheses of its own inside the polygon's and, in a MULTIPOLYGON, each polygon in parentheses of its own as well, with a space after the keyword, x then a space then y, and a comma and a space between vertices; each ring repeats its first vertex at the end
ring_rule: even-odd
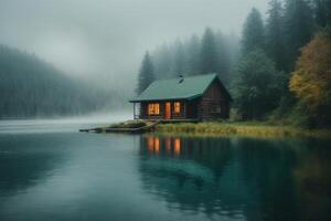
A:
MULTIPOLYGON (((146 50, 205 27, 238 33, 268 0, 0 0, 0 43, 35 53, 74 75, 136 77, 146 50)), ((120 80, 120 81, 119 81, 120 80)))

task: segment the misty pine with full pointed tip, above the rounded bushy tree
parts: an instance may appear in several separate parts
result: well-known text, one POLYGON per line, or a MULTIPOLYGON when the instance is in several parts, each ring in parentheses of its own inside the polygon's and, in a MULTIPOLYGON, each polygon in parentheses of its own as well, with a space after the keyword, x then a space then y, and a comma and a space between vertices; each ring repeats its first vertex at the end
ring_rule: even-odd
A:
POLYGON ((255 8, 248 14, 243 30, 242 53, 254 51, 256 49, 264 49, 264 22, 259 11, 255 8))

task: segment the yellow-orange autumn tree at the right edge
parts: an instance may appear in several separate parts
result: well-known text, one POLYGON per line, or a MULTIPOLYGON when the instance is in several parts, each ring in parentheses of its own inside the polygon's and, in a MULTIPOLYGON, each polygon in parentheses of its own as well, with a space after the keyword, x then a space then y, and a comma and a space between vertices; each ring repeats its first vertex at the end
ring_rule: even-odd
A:
POLYGON ((330 123, 331 40, 327 33, 318 33, 302 48, 289 87, 313 119, 330 123))

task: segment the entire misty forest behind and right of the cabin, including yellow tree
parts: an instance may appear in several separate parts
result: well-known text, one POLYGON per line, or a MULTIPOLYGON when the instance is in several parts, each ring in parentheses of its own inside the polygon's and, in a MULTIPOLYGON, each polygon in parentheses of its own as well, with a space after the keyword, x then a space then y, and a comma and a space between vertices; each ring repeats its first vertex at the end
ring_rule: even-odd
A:
POLYGON ((207 28, 201 36, 147 52, 137 93, 156 78, 213 72, 234 98, 236 119, 328 126, 330 29, 330 0, 270 0, 265 19, 252 9, 238 41, 207 28))

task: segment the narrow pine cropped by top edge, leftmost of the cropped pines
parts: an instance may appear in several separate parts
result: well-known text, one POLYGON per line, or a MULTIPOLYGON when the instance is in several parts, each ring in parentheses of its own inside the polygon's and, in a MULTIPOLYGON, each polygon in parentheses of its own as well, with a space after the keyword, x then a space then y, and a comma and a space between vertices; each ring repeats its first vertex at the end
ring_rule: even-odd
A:
POLYGON ((275 62, 277 70, 285 70, 285 44, 284 44, 284 9, 280 0, 269 2, 268 19, 266 24, 266 51, 275 62))

